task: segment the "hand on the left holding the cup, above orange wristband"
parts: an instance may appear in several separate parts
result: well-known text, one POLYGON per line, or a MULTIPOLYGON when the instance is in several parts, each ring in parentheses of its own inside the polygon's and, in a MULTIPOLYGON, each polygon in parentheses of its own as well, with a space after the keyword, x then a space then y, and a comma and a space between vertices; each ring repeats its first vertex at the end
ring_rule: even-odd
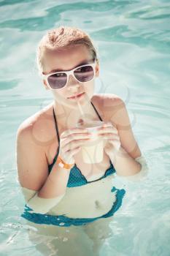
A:
POLYGON ((59 156, 66 164, 75 163, 74 154, 80 151, 85 141, 90 140, 91 136, 85 128, 67 129, 61 133, 59 156))

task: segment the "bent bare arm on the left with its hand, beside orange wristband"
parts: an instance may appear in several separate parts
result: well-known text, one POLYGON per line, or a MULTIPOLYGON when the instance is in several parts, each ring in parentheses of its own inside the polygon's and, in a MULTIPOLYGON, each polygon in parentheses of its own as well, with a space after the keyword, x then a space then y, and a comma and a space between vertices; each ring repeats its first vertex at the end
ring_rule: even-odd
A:
MULTIPOLYGON (((32 125, 20 127, 17 136, 18 178, 28 205, 34 211, 46 213, 56 206, 66 193, 70 169, 55 163, 48 174, 45 150, 34 141, 32 125), (30 198, 29 198, 30 196, 30 198)), ((81 128, 61 134, 59 155, 66 163, 74 163, 74 154, 89 136, 81 128)))

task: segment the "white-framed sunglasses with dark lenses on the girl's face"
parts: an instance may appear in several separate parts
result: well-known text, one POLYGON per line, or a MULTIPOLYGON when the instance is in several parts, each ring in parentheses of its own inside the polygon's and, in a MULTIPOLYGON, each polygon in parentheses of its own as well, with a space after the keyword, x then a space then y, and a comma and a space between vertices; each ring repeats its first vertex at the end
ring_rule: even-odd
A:
POLYGON ((58 90, 65 87, 69 81, 69 75, 72 75, 78 82, 86 83, 95 77, 96 60, 92 64, 85 64, 75 67, 69 71, 54 72, 48 75, 42 74, 51 89, 58 90))

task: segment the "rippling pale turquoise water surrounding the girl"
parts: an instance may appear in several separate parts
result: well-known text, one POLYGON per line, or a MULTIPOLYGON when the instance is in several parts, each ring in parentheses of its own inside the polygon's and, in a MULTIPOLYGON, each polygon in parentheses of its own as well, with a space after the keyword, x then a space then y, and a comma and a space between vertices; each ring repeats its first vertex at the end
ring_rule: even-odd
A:
MULTIPOLYGON (((101 62, 96 93, 124 99, 150 168, 138 183, 113 181, 125 188, 126 196, 110 218, 112 235, 102 241, 98 255, 168 256, 169 1, 5 0, 0 1, 0 17, 0 255, 62 255, 62 246, 69 244, 63 239, 57 252, 53 236, 37 235, 34 241, 28 236, 31 227, 20 218, 24 201, 15 162, 19 124, 52 100, 37 74, 36 45, 47 29, 66 25, 79 26, 96 42, 101 62)), ((84 239, 79 255, 92 243, 84 239)))

